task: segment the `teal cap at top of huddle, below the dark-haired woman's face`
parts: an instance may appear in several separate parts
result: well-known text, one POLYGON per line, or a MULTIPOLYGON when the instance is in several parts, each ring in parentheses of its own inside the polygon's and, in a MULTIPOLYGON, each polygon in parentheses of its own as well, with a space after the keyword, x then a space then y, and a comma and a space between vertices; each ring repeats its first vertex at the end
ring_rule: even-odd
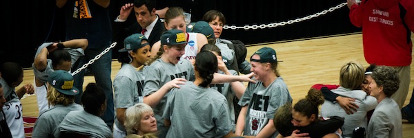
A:
POLYGON ((214 30, 206 21, 197 21, 187 25, 187 32, 204 34, 208 38, 214 38, 214 30))

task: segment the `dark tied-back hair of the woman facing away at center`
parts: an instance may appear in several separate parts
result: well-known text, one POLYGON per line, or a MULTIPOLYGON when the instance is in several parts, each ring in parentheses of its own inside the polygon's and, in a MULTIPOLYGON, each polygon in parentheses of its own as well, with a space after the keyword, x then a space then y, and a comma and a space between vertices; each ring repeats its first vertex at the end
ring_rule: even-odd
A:
POLYGON ((200 51, 195 58, 194 66, 195 71, 199 73, 199 77, 204 79, 199 87, 208 87, 218 69, 217 57, 211 51, 200 51))

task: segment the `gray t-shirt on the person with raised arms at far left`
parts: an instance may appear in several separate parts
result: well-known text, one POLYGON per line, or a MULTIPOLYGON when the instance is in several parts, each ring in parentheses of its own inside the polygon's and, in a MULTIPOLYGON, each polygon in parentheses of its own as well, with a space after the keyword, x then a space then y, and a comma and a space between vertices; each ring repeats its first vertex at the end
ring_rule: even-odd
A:
MULTIPOLYGON (((52 45, 53 43, 43 43, 42 45, 40 45, 37 48, 36 54, 34 56, 34 58, 37 57, 37 55, 40 54, 41 49, 43 49, 44 47, 49 47, 50 45, 52 45)), ((73 65, 76 60, 79 59, 79 57, 85 55, 83 49, 81 48, 77 48, 77 49, 72 49, 72 48, 65 48, 65 50, 67 50, 70 54, 70 60, 72 61, 73 65)), ((46 66, 46 69, 44 71, 39 71, 38 69, 36 69, 36 67, 34 67, 34 64, 32 64, 33 67, 33 73, 34 73, 34 77, 36 77, 37 79, 39 79, 41 82, 48 82, 48 76, 50 73, 52 73, 52 71, 54 71, 54 69, 52 69, 52 60, 48 59, 48 65, 46 66)))

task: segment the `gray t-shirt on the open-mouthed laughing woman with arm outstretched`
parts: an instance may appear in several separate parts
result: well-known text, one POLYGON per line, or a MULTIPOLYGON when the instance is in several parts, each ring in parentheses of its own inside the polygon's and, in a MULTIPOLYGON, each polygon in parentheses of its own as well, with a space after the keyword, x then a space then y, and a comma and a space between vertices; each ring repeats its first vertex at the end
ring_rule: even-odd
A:
MULTIPOLYGON (((150 95, 158 91, 164 84, 174 80, 175 78, 185 78, 186 80, 195 80, 194 69, 188 60, 180 60, 177 65, 164 62, 161 59, 157 59, 145 71, 146 81, 144 86, 144 95, 150 95)), ((162 117, 165 102, 168 97, 168 93, 164 95, 159 104, 152 108, 157 119, 157 128, 159 137, 164 137, 168 128, 164 125, 164 118, 162 117)))

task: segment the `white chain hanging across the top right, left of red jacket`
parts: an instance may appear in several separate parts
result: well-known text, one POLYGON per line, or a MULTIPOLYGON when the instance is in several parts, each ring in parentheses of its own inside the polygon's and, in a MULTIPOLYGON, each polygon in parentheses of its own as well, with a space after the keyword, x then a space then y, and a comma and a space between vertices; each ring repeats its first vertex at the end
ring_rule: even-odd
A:
POLYGON ((333 8, 329 8, 329 10, 324 10, 324 11, 316 13, 316 14, 308 15, 308 16, 305 16, 305 17, 302 17, 302 18, 299 18, 299 19, 295 19, 295 20, 282 21, 280 23, 270 23, 268 25, 261 24, 261 25, 251 25, 251 26, 250 25, 244 25, 244 26, 241 26, 241 27, 236 26, 236 25, 230 25, 230 26, 229 25, 224 25, 223 29, 232 29, 232 30, 237 30, 237 29, 250 30, 250 29, 253 29, 253 30, 257 30, 259 28, 264 29, 266 27, 283 26, 283 25, 288 25, 288 24, 292 24, 292 23, 297 23, 297 22, 300 22, 300 21, 305 21, 305 20, 308 20, 308 19, 313 19, 317 16, 326 14, 328 12, 333 12, 334 10, 342 8, 342 7, 344 7, 344 5, 346 5, 346 3, 341 3, 341 4, 339 4, 339 5, 337 5, 333 8))

